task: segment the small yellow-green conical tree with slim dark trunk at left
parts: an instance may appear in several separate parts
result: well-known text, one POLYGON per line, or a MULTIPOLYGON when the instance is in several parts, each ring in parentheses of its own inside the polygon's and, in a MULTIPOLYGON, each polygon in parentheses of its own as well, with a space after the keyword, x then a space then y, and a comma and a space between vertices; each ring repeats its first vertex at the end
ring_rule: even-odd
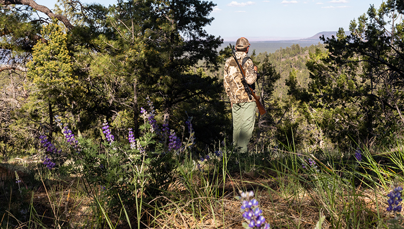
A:
POLYGON ((32 79, 33 93, 48 106, 49 135, 54 132, 55 107, 58 112, 71 105, 78 81, 71 74, 72 63, 66 47, 66 34, 57 21, 44 26, 41 35, 47 42, 39 41, 33 48, 33 57, 28 62, 27 76, 32 79))

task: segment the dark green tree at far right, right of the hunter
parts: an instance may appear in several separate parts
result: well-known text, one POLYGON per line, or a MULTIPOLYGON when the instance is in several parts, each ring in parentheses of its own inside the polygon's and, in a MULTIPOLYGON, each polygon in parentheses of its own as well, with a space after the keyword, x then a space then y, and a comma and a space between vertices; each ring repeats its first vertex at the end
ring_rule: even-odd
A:
MULTIPOLYGON (((325 39, 307 67, 308 88, 292 77, 290 93, 309 106, 323 133, 338 142, 365 145, 394 142, 403 127, 403 2, 388 0, 379 9, 325 39)), ((305 105, 304 105, 305 104, 305 105)), ((308 115, 306 115, 308 116, 308 115)), ((346 146, 343 146, 344 148, 346 146)))

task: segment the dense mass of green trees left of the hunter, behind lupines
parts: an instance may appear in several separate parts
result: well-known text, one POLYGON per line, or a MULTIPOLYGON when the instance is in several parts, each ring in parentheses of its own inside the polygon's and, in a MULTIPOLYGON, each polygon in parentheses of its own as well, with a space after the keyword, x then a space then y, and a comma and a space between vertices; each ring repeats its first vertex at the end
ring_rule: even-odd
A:
MULTIPOLYGON (((123 137, 129 127, 139 137, 139 112, 147 104, 147 96, 161 111, 158 121, 170 124, 178 133, 184 132, 182 120, 195 117, 200 149, 225 137, 230 121, 218 96, 223 91, 221 81, 202 70, 202 67, 216 69, 220 60, 217 48, 222 40, 203 29, 213 20, 209 13, 214 3, 129 0, 118 1, 109 8, 97 4, 80 8, 76 3, 64 1, 60 4, 58 12, 65 13, 75 23, 64 34, 59 29, 58 35, 52 35, 45 26, 42 34, 37 32, 37 37, 31 39, 17 33, 16 26, 7 27, 10 31, 1 37, 9 44, 13 40, 6 36, 10 34, 15 40, 37 44, 25 52, 21 52, 20 46, 3 46, 9 53, 19 51, 32 58, 31 65, 27 65, 28 78, 24 79, 28 97, 20 99, 22 109, 7 114, 8 124, 4 128, 8 133, 12 133, 11 125, 35 129, 18 137, 10 135, 13 137, 3 138, 3 142, 29 150, 29 144, 20 144, 21 139, 33 142, 41 129, 52 138, 56 114, 68 117, 73 122, 72 129, 86 136, 99 137, 94 127, 106 118, 115 127, 116 137, 123 137), (83 14, 75 12, 78 10, 83 14), (60 36, 67 39, 60 40, 60 36), (65 63, 69 69, 61 68, 65 63)), ((31 9, 3 10, 9 12, 2 15, 8 20, 31 9)), ((20 17, 23 22, 33 20, 23 15, 20 17)), ((58 28, 56 24, 50 25, 58 28)), ((5 60, 9 55, 5 53, 2 58, 5 60)), ((28 61, 21 60, 15 56, 9 61, 26 66, 28 61)))

